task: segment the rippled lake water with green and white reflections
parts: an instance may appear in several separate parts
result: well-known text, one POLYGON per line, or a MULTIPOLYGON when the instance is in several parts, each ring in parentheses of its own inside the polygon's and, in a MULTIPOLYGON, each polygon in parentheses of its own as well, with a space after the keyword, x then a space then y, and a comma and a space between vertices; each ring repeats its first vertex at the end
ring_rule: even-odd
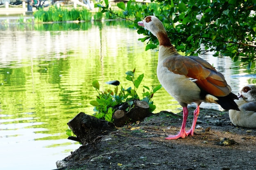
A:
MULTIPOLYGON (((93 113, 91 86, 119 80, 136 68, 142 85, 157 86, 157 51, 145 51, 135 29, 126 21, 63 24, 0 24, 0 169, 51 170, 80 144, 67 139, 67 122, 79 112, 93 113)), ((229 58, 203 57, 217 68, 238 66, 229 58)), ((256 84, 255 70, 220 69, 233 92, 256 84)), ((139 93, 140 94, 140 93, 139 93)), ((160 110, 180 111, 180 105, 160 89, 153 97, 160 110)), ((202 104, 216 108, 218 105, 202 104)))

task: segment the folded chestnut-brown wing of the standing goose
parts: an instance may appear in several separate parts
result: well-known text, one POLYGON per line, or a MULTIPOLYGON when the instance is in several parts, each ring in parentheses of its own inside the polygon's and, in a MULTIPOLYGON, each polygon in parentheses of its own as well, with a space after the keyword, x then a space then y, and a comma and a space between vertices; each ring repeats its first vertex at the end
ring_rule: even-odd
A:
POLYGON ((197 79, 195 83, 211 95, 222 97, 231 93, 225 77, 200 57, 173 55, 163 62, 163 66, 175 74, 197 79))

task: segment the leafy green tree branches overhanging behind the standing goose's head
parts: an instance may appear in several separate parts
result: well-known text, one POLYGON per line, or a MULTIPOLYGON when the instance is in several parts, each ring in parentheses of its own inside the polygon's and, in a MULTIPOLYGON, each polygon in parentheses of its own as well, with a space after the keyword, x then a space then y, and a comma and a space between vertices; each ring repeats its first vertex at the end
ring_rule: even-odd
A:
MULTIPOLYGON (((168 37, 178 51, 199 55, 209 51, 214 56, 229 56, 255 67, 256 60, 256 0, 151 0, 139 5, 135 0, 117 4, 126 19, 135 16, 132 27, 140 39, 148 41, 146 50, 159 44, 157 38, 137 25, 145 16, 157 16, 166 28, 168 37)), ((102 12, 112 12, 108 5, 97 4, 102 12)), ((117 15, 118 16, 118 15, 117 15)))

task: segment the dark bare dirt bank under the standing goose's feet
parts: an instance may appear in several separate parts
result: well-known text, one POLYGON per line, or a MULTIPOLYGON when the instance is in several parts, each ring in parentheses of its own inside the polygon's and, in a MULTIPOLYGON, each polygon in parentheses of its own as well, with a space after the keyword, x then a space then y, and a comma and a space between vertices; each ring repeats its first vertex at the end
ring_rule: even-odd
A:
POLYGON ((181 115, 160 112, 119 128, 58 161, 58 170, 256 170, 256 129, 232 125, 227 111, 200 109, 193 137, 164 139, 179 132, 181 115))

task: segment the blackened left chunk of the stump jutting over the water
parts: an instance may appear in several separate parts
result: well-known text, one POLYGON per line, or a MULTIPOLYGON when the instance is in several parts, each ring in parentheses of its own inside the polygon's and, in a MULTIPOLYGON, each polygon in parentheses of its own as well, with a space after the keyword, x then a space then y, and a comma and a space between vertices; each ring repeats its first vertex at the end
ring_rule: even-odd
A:
POLYGON ((113 123, 86 115, 83 112, 76 115, 67 125, 83 145, 92 143, 97 137, 107 135, 116 129, 113 123))

